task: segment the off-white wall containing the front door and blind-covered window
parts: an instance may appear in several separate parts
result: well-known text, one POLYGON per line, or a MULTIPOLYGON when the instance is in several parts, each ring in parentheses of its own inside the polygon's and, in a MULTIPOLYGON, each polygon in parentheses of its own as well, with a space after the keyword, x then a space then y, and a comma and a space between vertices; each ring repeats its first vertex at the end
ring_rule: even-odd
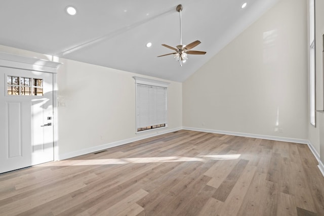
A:
MULTIPOLYGON (((5 46, 0 46, 0 52, 52 58, 5 46)), ((57 73, 59 159, 181 128, 182 83, 164 80, 171 82, 168 127, 136 134, 133 76, 142 75, 67 59, 58 61, 63 63, 57 73)))

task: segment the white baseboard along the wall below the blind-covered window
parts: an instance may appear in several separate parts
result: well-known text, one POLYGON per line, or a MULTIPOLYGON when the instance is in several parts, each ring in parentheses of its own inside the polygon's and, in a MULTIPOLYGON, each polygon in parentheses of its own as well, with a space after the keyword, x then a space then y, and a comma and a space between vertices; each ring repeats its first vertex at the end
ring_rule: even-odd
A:
POLYGON ((158 136, 158 135, 179 131, 180 129, 182 129, 182 127, 168 129, 168 130, 165 130, 165 131, 156 130, 156 131, 154 131, 154 133, 137 136, 137 137, 134 137, 134 138, 131 138, 131 139, 121 140, 121 141, 107 143, 107 144, 100 145, 100 146, 94 146, 94 147, 90 147, 90 148, 86 148, 86 149, 80 149, 80 150, 73 151, 73 152, 59 154, 57 160, 64 160, 64 159, 68 159, 68 158, 72 158, 72 157, 76 157, 76 156, 80 156, 80 155, 84 155, 84 154, 89 154, 89 153, 92 153, 92 152, 101 151, 101 150, 104 150, 104 149, 124 145, 124 144, 127 144, 127 143, 132 143, 132 142, 143 140, 143 139, 146 139, 146 138, 155 137, 155 136, 158 136))

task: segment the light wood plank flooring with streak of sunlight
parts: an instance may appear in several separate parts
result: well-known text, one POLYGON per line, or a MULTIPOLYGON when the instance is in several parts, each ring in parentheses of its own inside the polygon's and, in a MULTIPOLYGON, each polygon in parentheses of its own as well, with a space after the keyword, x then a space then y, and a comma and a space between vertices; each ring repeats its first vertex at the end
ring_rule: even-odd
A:
POLYGON ((0 175, 0 215, 324 215, 307 145, 179 131, 0 175))

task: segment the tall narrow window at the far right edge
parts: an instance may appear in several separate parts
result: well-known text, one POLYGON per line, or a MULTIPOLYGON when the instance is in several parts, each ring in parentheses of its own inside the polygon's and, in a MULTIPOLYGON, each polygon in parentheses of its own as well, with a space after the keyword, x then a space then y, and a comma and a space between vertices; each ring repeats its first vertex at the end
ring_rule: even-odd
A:
POLYGON ((309 1, 310 123, 315 125, 315 5, 309 1))

